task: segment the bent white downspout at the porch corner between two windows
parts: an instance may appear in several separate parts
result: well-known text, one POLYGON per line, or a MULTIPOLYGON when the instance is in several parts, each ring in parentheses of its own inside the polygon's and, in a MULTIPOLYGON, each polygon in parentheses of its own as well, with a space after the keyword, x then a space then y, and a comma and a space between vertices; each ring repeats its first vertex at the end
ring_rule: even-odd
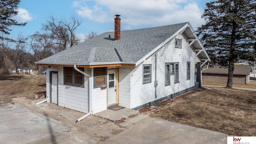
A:
POLYGON ((88 75, 88 74, 86 74, 85 72, 83 72, 82 70, 79 70, 77 67, 76 67, 76 65, 74 64, 74 69, 76 70, 76 71, 78 71, 78 72, 80 72, 81 74, 83 74, 84 76, 87 76, 88 77, 88 105, 89 105, 89 110, 88 110, 88 113, 86 114, 86 115, 84 115, 84 116, 82 116, 81 118, 78 118, 77 120, 76 120, 76 122, 79 122, 80 120, 82 120, 82 119, 84 119, 84 118, 86 118, 87 116, 89 116, 89 115, 92 115, 92 112, 93 112, 93 110, 92 110, 92 95, 91 95, 91 90, 90 90, 90 88, 91 88, 91 83, 90 83, 90 81, 91 81, 91 76, 90 75, 88 75))

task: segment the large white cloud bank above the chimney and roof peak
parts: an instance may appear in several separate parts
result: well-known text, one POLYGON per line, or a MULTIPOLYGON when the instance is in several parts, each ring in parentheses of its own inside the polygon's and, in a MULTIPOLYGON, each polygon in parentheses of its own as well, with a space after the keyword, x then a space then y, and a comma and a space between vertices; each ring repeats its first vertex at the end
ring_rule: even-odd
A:
POLYGON ((204 24, 203 10, 190 0, 98 0, 94 6, 80 3, 78 15, 95 22, 113 22, 121 15, 122 29, 190 22, 194 29, 204 24))

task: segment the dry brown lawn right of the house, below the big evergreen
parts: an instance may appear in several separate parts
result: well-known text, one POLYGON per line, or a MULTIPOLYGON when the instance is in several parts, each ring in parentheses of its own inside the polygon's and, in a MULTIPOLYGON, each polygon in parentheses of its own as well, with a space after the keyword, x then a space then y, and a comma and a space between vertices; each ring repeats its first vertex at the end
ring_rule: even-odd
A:
POLYGON ((256 136, 255 91, 212 88, 182 99, 151 116, 234 136, 256 136))

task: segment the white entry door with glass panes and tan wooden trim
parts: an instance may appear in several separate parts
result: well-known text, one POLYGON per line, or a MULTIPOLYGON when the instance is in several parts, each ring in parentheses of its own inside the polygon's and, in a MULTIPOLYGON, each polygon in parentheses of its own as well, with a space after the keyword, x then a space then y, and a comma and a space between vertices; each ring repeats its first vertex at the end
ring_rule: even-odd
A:
POLYGON ((116 70, 108 71, 108 106, 117 104, 116 70))

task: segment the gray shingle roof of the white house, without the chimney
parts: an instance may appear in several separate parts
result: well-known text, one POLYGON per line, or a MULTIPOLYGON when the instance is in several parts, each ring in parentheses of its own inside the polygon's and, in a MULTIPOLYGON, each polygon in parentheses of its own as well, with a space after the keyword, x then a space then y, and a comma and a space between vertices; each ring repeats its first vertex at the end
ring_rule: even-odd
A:
POLYGON ((115 48, 123 62, 136 63, 187 23, 124 30, 117 41, 114 41, 114 32, 105 32, 36 63, 84 65, 90 62, 120 62, 115 48))

